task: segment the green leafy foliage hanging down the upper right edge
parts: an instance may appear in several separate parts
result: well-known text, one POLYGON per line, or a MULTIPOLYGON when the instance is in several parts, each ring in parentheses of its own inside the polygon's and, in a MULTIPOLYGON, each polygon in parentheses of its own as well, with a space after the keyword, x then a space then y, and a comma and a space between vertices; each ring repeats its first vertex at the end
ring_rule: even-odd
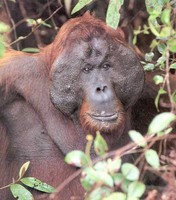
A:
MULTIPOLYGON (((133 42, 137 42, 138 34, 154 35, 150 44, 151 52, 145 54, 145 61, 142 62, 146 71, 159 69, 162 72, 154 76, 153 80, 156 85, 160 86, 158 95, 155 99, 155 105, 158 104, 161 95, 168 94, 171 111, 176 111, 175 91, 171 91, 169 73, 170 70, 176 69, 176 30, 175 30, 175 6, 176 3, 170 0, 146 0, 146 9, 148 11, 148 25, 143 28, 139 27, 134 31, 133 42), (160 56, 155 60, 155 54, 160 56)), ((158 109, 159 110, 159 109, 158 109)))

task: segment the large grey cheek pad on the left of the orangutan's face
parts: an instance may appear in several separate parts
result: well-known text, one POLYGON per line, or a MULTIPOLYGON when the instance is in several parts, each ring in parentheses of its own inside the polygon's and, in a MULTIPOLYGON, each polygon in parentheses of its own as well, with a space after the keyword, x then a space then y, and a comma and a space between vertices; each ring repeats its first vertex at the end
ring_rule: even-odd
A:
POLYGON ((50 72, 50 97, 62 113, 71 115, 82 102, 80 70, 88 48, 86 42, 74 43, 53 63, 50 72))

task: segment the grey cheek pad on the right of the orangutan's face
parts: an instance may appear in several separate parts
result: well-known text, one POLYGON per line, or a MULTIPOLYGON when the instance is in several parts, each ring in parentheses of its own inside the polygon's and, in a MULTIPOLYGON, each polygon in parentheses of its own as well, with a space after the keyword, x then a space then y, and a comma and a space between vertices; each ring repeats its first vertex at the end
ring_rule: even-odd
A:
POLYGON ((142 93, 144 71, 138 58, 131 50, 127 49, 126 55, 121 52, 120 56, 118 56, 119 59, 113 58, 113 63, 116 64, 111 76, 117 96, 128 108, 135 104, 142 93))

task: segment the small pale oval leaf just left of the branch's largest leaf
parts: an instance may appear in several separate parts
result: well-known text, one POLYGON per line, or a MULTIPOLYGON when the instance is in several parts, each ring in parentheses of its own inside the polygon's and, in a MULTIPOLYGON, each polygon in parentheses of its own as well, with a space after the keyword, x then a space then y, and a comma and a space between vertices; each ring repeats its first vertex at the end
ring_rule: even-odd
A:
POLYGON ((145 147, 147 145, 145 138, 139 132, 131 130, 128 134, 138 146, 145 147))

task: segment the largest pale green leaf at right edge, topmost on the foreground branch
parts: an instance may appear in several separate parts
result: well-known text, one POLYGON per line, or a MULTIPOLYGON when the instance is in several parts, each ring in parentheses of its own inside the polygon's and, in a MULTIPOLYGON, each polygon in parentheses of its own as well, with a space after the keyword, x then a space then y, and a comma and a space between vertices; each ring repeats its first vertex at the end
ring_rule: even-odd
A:
POLYGON ((170 112, 163 112, 154 117, 148 128, 148 134, 159 133, 166 129, 171 122, 176 120, 176 116, 170 112))

